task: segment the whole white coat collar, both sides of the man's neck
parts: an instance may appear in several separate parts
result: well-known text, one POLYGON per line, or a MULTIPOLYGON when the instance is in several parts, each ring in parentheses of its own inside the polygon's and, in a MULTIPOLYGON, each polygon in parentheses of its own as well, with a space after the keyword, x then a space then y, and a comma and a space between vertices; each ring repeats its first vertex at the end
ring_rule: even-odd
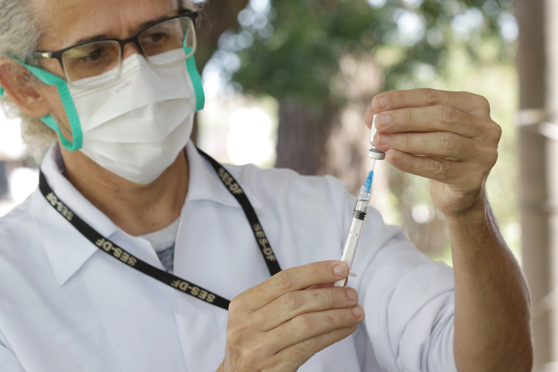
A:
MULTIPOLYGON (((213 167, 201 157, 193 143, 186 144, 186 154, 190 175, 184 207, 188 201, 211 200, 240 208, 238 201, 225 188, 213 167)), ((119 231, 116 224, 81 195, 62 175, 64 162, 57 143, 47 152, 41 163, 41 171, 52 191, 85 223, 108 238, 119 231)), ((244 187, 243 190, 254 209, 261 208, 261 203, 256 196, 244 187)), ((97 252, 98 248, 66 221, 47 202, 39 189, 31 195, 31 211, 56 281, 62 286, 86 260, 97 252)))

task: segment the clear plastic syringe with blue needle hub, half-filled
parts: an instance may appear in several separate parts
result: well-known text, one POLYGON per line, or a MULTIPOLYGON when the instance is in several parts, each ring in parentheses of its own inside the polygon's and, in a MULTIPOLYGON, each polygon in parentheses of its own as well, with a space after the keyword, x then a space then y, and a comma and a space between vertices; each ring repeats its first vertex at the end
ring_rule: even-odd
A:
MULTIPOLYGON (((341 254, 341 261, 344 261, 349 266, 349 277, 355 277, 357 274, 350 272, 350 268, 353 265, 354 254, 357 252, 358 239, 360 238, 360 231, 362 231, 362 225, 364 224, 364 219, 368 213, 368 205, 370 204, 370 194, 372 192, 372 180, 374 178, 374 171, 368 172, 368 177, 364 185, 360 187, 360 192, 357 198, 357 204, 354 206, 353 218, 350 221, 349 232, 347 233, 347 239, 345 239, 345 245, 343 247, 343 254, 341 254)), ((347 284, 348 278, 341 279, 335 282, 335 287, 343 287, 347 284)))

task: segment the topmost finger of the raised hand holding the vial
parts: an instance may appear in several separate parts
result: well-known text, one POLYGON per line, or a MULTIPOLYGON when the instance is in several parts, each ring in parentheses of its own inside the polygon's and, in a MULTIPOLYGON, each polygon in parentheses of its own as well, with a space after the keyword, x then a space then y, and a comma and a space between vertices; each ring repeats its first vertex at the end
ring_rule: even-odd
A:
POLYGON ((392 90, 378 94, 372 99, 376 112, 406 107, 449 106, 464 113, 490 113, 490 105, 482 95, 466 91, 446 91, 431 88, 392 90))

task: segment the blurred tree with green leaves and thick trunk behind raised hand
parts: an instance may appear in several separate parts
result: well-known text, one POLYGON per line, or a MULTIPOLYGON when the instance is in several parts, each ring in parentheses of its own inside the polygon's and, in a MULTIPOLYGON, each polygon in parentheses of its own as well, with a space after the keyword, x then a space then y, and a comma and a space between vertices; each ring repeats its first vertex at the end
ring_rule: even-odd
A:
MULTIPOLYGON (((251 0, 219 46, 241 61, 230 71, 237 89, 279 103, 276 166, 331 173, 355 192, 367 163, 362 116, 373 95, 443 78, 455 46, 472 60, 479 45, 512 60, 511 13, 511 0, 251 0)), ((389 174, 413 243, 445 248, 444 239, 431 238, 445 234, 439 214, 423 208, 421 218, 413 206, 421 196, 405 195, 415 178, 389 174)))

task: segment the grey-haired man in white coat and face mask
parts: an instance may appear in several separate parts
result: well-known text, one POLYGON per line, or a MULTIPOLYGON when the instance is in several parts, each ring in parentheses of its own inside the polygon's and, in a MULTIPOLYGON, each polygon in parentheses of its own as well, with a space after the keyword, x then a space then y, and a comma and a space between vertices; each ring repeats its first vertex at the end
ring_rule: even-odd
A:
POLYGON ((347 187, 222 166, 188 141, 204 100, 192 9, 0 0, 3 101, 57 139, 0 219, 0 369, 530 370, 528 290, 484 188, 501 134, 487 100, 373 99, 376 147, 432 181, 453 269, 371 210, 358 276, 334 287, 347 187))

